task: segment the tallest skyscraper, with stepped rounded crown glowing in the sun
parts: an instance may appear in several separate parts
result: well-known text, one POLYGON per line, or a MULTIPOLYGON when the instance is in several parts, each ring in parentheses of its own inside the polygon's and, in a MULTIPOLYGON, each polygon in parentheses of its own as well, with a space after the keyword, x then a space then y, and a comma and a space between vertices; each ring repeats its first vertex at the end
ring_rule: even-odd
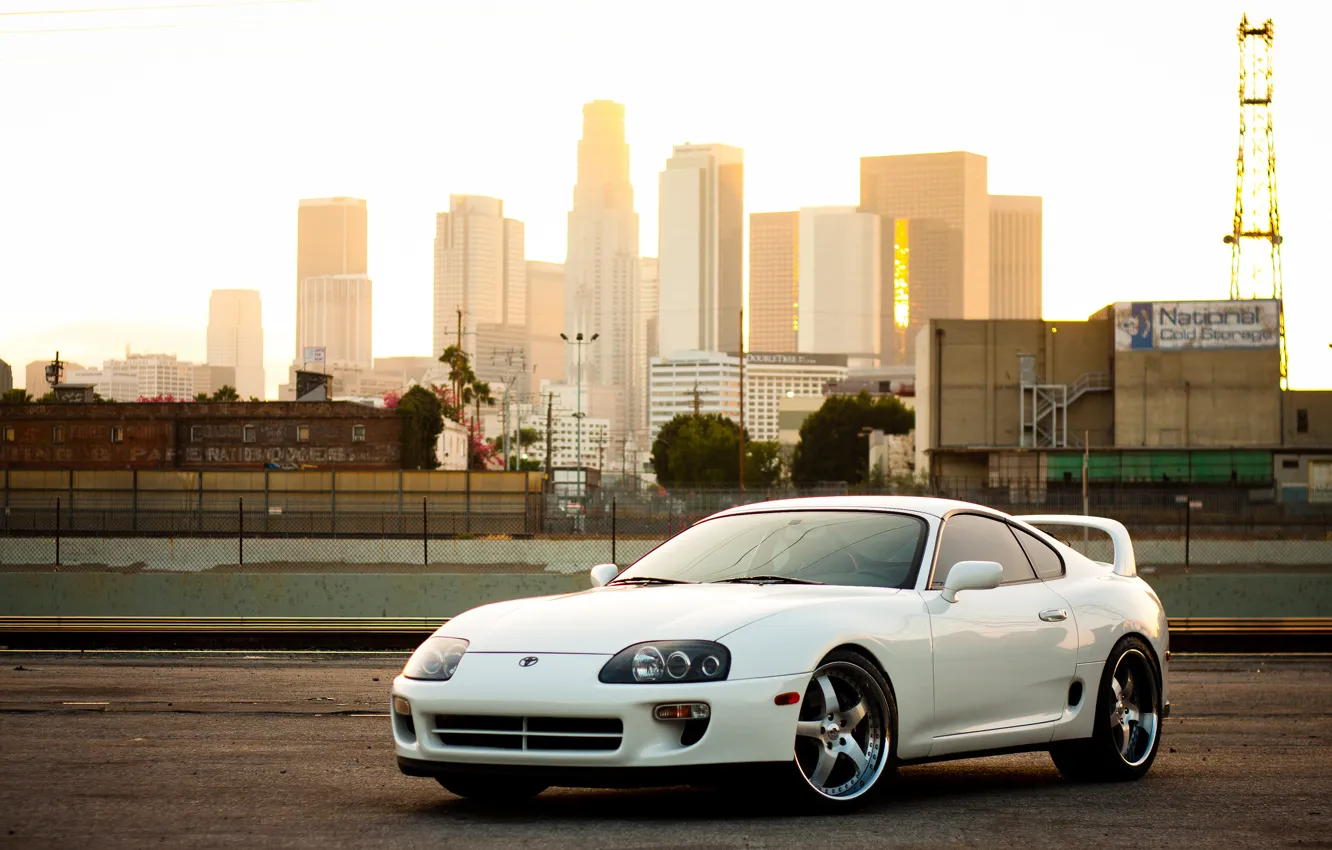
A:
POLYGON ((646 364, 635 362, 641 325, 638 213, 629 183, 625 107, 610 100, 583 104, 578 141, 578 183, 569 212, 565 258, 565 333, 599 338, 567 346, 566 380, 575 380, 575 348, 582 348, 582 380, 614 394, 617 436, 646 436, 646 364))

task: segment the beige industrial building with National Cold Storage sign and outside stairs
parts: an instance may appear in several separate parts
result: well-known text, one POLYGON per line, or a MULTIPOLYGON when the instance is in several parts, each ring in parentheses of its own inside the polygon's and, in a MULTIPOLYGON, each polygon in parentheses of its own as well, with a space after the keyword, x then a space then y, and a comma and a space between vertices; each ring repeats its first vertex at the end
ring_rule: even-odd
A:
POLYGON ((1283 392, 1280 302, 1124 302, 1087 321, 931 320, 916 469, 987 488, 1245 486, 1332 501, 1332 393, 1283 392), (1086 450, 1086 452, 1084 452, 1086 450))

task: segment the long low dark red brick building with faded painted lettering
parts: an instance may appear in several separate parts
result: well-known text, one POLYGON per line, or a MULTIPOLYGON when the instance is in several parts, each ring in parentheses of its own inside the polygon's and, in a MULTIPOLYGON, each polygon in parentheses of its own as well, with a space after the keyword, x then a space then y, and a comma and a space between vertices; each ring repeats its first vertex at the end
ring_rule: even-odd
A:
POLYGON ((400 436, 341 401, 0 405, 0 469, 400 469, 400 436))

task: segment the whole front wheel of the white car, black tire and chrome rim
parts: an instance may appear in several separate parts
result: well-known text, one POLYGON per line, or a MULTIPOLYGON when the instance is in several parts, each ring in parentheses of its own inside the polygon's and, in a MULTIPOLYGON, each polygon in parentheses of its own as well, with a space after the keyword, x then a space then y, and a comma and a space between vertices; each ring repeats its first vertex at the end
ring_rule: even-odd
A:
POLYGON ((863 806, 892 771, 896 730, 896 699, 879 669, 854 650, 829 653, 801 703, 791 769, 779 777, 783 802, 821 813, 863 806))

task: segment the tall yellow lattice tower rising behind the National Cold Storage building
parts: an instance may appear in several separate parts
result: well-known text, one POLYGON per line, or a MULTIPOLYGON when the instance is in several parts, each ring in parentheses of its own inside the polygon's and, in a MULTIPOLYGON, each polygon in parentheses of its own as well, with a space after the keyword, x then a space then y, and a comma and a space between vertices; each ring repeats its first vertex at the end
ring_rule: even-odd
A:
MULTIPOLYGON (((1235 218, 1231 298, 1281 300, 1281 216, 1276 207, 1276 147, 1272 141, 1271 19, 1261 27, 1240 19, 1240 152, 1235 161, 1235 218)), ((1281 389, 1287 388, 1285 305, 1279 308, 1281 389)))

